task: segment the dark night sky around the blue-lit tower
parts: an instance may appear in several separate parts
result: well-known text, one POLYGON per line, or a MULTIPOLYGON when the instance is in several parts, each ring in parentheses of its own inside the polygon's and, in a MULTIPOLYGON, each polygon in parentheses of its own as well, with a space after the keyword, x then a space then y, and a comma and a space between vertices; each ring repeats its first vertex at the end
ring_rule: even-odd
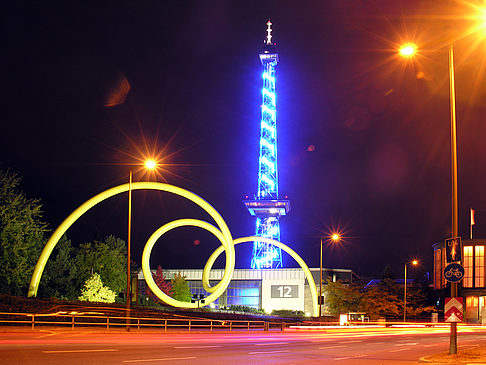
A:
MULTIPOLYGON (((432 247, 450 236, 447 42, 455 39, 459 232, 486 236, 486 87, 479 2, 119 1, 23 2, 2 14, 1 167, 42 200, 52 229, 91 196, 128 180, 130 165, 158 154, 160 175, 209 201, 234 237, 252 235, 241 200, 257 184, 261 104, 258 53, 273 22, 279 185, 292 210, 281 240, 309 266, 370 277, 411 258, 432 270, 432 247), (415 41, 413 61, 397 56, 415 41), (124 83, 125 82, 125 83, 124 83), (130 91, 107 107, 113 90, 130 91)), ((157 192, 133 196, 133 251, 160 225, 200 210, 157 192)), ((202 215, 204 217, 204 215, 202 215)), ((127 195, 90 211, 75 242, 126 239, 127 195)), ((202 268, 216 240, 178 229, 152 265, 202 268), (200 244, 195 245, 194 241, 200 244)), ((237 247, 249 267, 251 245, 237 247)), ((296 267, 290 257, 284 266, 296 267)))

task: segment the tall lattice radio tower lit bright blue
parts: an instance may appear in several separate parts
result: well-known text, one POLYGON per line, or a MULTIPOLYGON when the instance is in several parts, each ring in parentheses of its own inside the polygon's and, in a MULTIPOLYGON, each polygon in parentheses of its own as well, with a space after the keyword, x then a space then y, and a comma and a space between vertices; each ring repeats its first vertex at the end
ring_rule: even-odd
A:
MULTIPOLYGON (((281 216, 290 209, 288 200, 278 198, 277 169, 277 109, 275 93, 275 67, 278 53, 272 43, 272 23, 267 22, 267 37, 260 53, 263 66, 262 118, 260 121, 260 158, 258 166, 258 192, 254 199, 244 200, 252 216, 256 217, 256 236, 280 241, 281 216)), ((253 242, 252 269, 282 267, 280 248, 263 242, 253 242)))

